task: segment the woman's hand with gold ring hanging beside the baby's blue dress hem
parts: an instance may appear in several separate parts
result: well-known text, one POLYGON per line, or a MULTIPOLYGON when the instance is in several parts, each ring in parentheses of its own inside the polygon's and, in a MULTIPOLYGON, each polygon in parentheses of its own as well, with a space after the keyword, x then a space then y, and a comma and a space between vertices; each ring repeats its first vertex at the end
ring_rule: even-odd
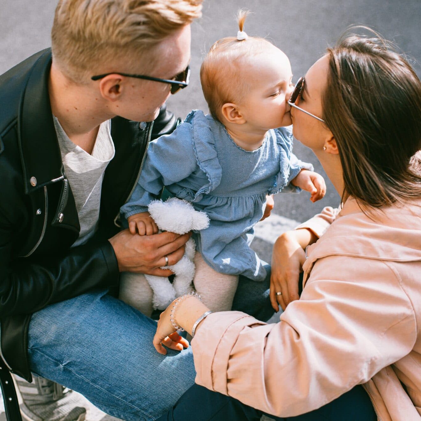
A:
POLYGON ((285 232, 273 247, 269 296, 276 312, 279 311, 279 304, 285 310, 291 301, 300 298, 298 279, 306 257, 297 238, 301 234, 298 231, 301 230, 285 232), (277 295, 277 292, 282 292, 282 295, 277 295))

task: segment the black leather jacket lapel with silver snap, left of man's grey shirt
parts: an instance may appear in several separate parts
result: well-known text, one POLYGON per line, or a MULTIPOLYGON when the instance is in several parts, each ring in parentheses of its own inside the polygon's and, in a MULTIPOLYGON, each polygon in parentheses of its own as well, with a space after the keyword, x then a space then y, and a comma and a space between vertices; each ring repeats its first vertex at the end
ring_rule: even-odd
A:
POLYGON ((49 207, 53 216, 49 225, 79 232, 75 200, 64 176, 48 95, 50 68, 51 48, 47 48, 32 67, 20 102, 18 142, 25 193, 34 196, 46 186, 50 191, 49 207), (56 183, 61 188, 51 189, 56 183), (57 190, 60 194, 53 194, 52 197, 51 194, 57 190))

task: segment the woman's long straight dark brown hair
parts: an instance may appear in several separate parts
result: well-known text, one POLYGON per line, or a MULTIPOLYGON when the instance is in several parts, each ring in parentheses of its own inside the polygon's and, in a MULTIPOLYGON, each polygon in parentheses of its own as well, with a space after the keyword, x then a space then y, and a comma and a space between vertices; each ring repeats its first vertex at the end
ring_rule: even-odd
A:
POLYGON ((343 168, 344 193, 379 208, 421 198, 421 82, 378 34, 328 49, 323 119, 343 168))

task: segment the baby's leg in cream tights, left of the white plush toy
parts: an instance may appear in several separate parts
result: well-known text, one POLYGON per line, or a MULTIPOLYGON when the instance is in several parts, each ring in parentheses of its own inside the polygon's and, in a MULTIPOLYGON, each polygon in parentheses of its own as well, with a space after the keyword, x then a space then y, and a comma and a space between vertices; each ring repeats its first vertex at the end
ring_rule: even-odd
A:
POLYGON ((152 314, 152 288, 142 273, 122 272, 120 274, 120 300, 138 309, 145 316, 152 314))

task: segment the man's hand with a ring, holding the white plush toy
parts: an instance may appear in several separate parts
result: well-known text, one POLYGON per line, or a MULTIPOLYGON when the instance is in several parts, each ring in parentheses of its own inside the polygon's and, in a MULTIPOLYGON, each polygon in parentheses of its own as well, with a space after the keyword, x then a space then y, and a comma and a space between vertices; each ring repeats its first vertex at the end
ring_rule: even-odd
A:
POLYGON ((176 264, 184 255, 184 244, 191 233, 132 235, 128 229, 120 231, 108 241, 114 248, 120 272, 140 272, 155 276, 170 276, 173 272, 161 269, 165 266, 165 256, 168 265, 176 264))

